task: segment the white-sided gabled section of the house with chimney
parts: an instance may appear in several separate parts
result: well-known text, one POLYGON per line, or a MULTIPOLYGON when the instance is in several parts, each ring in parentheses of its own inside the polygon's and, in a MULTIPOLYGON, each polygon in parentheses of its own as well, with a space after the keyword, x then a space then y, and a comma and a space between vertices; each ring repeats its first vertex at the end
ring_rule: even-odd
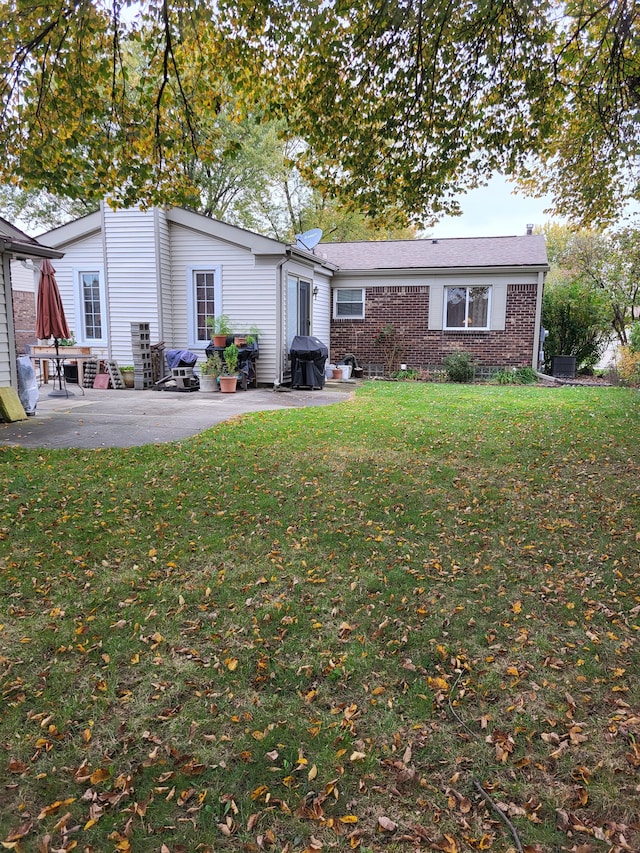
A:
POLYGON ((56 280, 79 345, 132 364, 131 323, 204 357, 206 319, 260 330, 257 379, 287 380, 296 334, 329 341, 334 266, 307 250, 182 208, 96 213, 38 237, 64 252, 56 280))

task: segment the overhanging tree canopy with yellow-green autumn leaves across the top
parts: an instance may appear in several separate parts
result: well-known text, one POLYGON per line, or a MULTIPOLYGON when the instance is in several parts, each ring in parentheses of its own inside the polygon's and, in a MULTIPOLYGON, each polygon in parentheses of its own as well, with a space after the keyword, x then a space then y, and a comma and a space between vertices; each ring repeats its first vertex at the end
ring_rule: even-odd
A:
POLYGON ((5 0, 0 168, 192 204, 212 117, 266 104, 305 141, 303 177, 370 216, 455 212, 499 170, 602 223, 640 195, 639 17, 635 0, 5 0))

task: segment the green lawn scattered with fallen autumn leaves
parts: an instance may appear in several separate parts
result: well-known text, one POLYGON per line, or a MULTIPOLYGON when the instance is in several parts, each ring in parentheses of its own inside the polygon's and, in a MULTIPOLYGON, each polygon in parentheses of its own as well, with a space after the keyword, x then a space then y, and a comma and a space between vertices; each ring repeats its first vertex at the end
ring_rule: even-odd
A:
POLYGON ((371 383, 0 448, 0 842, 640 849, 639 436, 631 390, 371 383))

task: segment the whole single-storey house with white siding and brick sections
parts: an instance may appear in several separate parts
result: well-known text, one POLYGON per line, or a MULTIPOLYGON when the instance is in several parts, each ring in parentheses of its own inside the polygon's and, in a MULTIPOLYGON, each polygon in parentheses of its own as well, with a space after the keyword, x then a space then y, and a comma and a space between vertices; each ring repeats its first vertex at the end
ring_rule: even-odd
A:
POLYGON ((492 367, 538 364, 544 237, 289 245, 182 208, 99 211, 41 235, 76 341, 121 366, 131 323, 151 342, 204 358, 207 317, 260 329, 260 384, 286 383, 295 335, 330 359, 351 353, 377 370, 379 333, 393 327, 400 360, 438 365, 464 349, 492 367))

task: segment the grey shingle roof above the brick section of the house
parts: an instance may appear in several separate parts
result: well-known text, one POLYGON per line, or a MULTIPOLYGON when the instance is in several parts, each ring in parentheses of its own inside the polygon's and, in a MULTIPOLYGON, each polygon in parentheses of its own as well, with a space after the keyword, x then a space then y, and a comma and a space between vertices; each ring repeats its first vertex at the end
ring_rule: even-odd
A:
POLYGON ((548 267, 544 236, 320 243, 316 255, 346 270, 548 267))

